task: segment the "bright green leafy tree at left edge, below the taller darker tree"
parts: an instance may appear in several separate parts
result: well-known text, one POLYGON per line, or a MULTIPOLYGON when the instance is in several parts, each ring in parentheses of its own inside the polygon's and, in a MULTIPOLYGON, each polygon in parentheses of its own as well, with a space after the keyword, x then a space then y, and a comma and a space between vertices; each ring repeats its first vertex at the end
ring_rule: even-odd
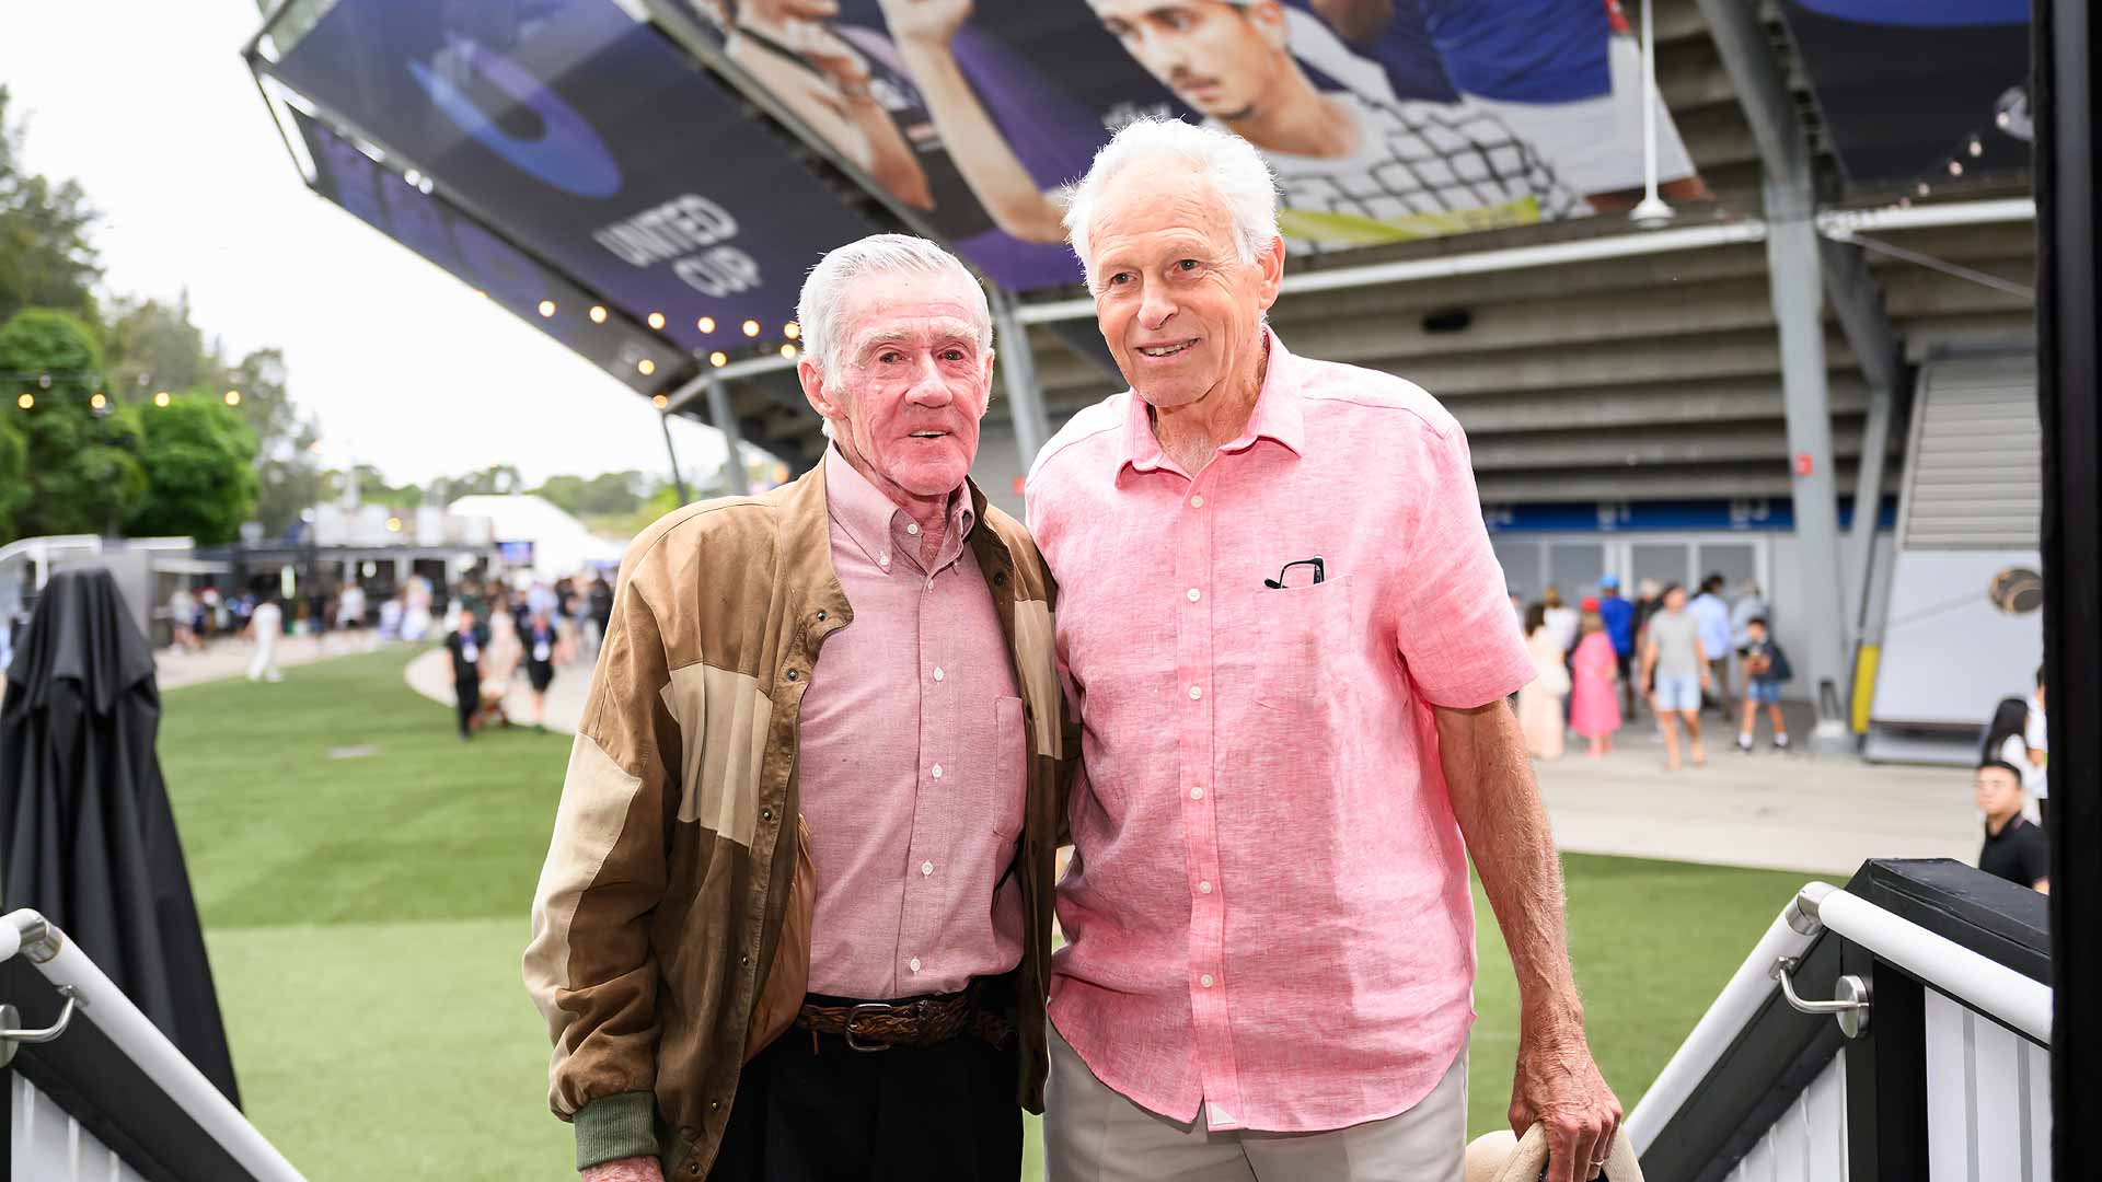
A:
POLYGON ((23 309, 0 326, 0 374, 40 374, 13 383, 17 395, 36 400, 15 410, 29 477, 27 503, 15 513, 17 534, 118 532, 145 494, 143 429, 137 406, 90 404, 103 391, 95 330, 67 311, 23 309))

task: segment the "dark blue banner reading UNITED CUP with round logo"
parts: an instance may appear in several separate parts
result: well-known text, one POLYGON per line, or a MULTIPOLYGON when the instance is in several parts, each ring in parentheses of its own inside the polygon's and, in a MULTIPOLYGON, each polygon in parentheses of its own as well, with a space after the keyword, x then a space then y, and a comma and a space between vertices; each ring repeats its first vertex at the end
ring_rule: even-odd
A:
MULTIPOLYGON (((778 341, 809 265, 872 231, 612 0, 338 0, 265 67, 685 349, 778 341)), ((553 332, 591 328, 555 303, 553 332)))

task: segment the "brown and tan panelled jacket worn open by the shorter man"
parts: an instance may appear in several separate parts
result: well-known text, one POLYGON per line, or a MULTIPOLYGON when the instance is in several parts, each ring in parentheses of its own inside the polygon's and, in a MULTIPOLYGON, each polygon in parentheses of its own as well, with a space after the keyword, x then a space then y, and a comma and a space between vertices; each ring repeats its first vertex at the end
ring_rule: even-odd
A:
MULTIPOLYGON (((1043 557, 969 494, 969 545, 1030 736, 1015 1098, 1040 1113, 1062 761, 1078 742, 1043 557)), ((555 1041, 549 1104, 576 1127, 578 1169, 656 1155, 666 1178, 706 1176, 748 1043, 803 999, 813 892, 795 881, 797 713, 824 637, 851 620, 822 465, 763 496, 679 509, 620 566, 526 949, 555 1041)))

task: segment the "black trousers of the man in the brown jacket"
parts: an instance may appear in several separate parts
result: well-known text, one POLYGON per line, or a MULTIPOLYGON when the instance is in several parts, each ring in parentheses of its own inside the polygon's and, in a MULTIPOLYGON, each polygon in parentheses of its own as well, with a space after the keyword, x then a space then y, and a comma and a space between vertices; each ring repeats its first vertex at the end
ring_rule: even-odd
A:
POLYGON ((738 1075, 715 1182, 1015 1182, 1015 1045, 858 1052, 790 1026, 738 1075))

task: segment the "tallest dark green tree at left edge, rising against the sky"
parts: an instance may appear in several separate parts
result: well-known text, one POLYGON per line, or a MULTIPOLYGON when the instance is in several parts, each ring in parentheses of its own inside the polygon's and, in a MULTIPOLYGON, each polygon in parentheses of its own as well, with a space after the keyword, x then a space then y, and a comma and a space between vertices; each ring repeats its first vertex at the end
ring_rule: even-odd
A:
POLYGON ((0 86, 0 324, 25 307, 95 320, 101 263, 88 227, 97 215, 76 181, 53 183, 21 166, 23 128, 6 107, 0 86))

